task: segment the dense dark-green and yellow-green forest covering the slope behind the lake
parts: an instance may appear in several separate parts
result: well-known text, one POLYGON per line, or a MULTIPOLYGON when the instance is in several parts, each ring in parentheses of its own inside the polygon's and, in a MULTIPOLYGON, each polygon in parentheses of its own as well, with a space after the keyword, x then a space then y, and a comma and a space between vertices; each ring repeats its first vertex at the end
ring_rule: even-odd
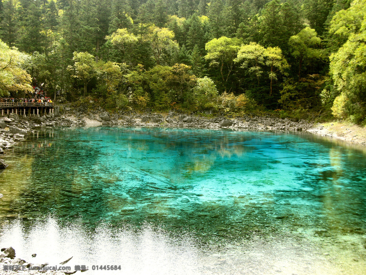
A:
POLYGON ((362 124, 366 0, 2 0, 0 95, 362 124))

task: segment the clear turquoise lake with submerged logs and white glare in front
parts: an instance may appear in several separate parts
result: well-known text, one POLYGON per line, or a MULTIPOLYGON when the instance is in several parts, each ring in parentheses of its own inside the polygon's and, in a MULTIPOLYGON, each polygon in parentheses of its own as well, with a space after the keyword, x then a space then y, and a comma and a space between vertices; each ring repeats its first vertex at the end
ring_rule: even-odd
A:
POLYGON ((43 129, 2 157, 0 246, 85 274, 366 274, 365 157, 310 134, 43 129))

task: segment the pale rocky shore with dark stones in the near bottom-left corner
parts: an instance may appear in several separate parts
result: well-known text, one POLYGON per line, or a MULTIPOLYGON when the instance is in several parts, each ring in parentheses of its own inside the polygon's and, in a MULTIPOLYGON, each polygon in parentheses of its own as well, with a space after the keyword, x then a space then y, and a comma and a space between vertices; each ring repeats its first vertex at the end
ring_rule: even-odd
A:
MULTIPOLYGON (((36 254, 31 255, 32 257, 36 257, 36 254)), ((78 270, 75 270, 75 267, 68 267, 66 263, 70 261, 67 259, 66 261, 61 262, 59 265, 49 266, 48 263, 42 264, 33 264, 27 262, 26 260, 15 258, 15 250, 11 246, 8 248, 1 248, 0 252, 0 275, 37 275, 37 274, 52 274, 52 275, 69 275, 75 274, 78 270), (68 270, 66 270, 68 269, 68 270), (64 270, 64 271, 60 271, 64 270)), ((81 270, 80 270, 81 271, 81 270)), ((86 271, 86 270, 84 270, 86 271)), ((81 271, 83 272, 83 271, 81 271)))

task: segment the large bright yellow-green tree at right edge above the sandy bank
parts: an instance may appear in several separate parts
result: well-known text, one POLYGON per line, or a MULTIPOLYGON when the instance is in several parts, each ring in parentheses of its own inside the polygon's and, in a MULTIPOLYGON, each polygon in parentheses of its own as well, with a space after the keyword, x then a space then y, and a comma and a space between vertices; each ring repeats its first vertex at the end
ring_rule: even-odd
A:
POLYGON ((366 118, 366 0, 355 0, 333 17, 330 32, 346 42, 330 56, 330 74, 340 95, 333 114, 348 114, 355 123, 366 118))

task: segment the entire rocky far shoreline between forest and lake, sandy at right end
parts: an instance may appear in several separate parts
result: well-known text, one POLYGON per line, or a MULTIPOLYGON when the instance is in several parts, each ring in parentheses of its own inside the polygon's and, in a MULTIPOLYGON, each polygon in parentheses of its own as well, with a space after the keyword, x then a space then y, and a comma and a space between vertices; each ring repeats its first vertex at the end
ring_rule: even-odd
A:
MULTIPOLYGON (((273 132, 308 132, 317 136, 328 137, 333 141, 344 142, 344 145, 366 146, 366 129, 357 125, 339 122, 313 124, 306 120, 291 121, 288 118, 271 117, 202 117, 183 113, 115 113, 99 111, 77 112, 68 108, 66 113, 58 116, 20 118, 15 113, 0 117, 0 154, 14 147, 16 143, 27 139, 31 133, 42 127, 169 127, 196 129, 232 129, 246 131, 273 132), (70 112, 69 112, 70 111, 70 112)), ((366 147, 365 147, 366 148, 366 147)), ((0 169, 6 163, 0 159, 0 169)))

